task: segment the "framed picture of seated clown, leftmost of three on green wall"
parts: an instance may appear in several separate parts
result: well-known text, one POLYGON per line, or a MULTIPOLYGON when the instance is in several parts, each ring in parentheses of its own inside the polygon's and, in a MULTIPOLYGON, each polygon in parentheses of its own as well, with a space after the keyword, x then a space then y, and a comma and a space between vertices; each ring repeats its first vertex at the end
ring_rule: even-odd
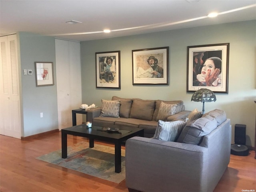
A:
POLYGON ((96 88, 120 89, 120 51, 96 52, 96 88))

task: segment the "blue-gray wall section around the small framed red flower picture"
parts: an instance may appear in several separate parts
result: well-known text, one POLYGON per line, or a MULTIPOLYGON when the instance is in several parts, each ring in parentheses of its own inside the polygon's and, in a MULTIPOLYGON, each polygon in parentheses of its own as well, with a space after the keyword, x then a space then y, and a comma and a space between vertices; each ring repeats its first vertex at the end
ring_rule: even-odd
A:
POLYGON ((53 37, 19 32, 20 63, 22 80, 22 136, 58 129, 56 82, 54 86, 36 86, 34 62, 54 62, 56 80, 55 42, 53 37), (23 75, 24 69, 31 69, 32 75, 23 75), (43 112, 44 117, 40 118, 43 112))

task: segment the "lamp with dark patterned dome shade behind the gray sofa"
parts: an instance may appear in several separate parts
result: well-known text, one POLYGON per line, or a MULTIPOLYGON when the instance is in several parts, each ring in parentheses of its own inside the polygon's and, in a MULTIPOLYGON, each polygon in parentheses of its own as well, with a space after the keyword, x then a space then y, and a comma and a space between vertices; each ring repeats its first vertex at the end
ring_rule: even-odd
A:
POLYGON ((216 96, 214 92, 212 92, 209 89, 199 89, 194 94, 192 95, 191 101, 196 101, 196 102, 203 102, 203 111, 202 113, 204 114, 204 102, 212 102, 216 101, 216 96))

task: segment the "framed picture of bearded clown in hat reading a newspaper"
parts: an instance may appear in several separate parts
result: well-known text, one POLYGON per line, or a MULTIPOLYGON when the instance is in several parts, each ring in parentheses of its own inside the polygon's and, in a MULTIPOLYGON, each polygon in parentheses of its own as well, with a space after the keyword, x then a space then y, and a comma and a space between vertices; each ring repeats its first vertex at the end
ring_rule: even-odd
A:
POLYGON ((132 50, 133 85, 169 85, 169 47, 132 50))

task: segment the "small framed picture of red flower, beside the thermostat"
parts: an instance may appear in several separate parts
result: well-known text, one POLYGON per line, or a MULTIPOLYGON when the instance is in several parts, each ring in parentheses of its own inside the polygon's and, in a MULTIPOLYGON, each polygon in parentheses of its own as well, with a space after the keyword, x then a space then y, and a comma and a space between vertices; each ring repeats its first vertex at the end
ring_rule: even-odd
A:
POLYGON ((36 86, 54 85, 53 62, 35 62, 36 86))

